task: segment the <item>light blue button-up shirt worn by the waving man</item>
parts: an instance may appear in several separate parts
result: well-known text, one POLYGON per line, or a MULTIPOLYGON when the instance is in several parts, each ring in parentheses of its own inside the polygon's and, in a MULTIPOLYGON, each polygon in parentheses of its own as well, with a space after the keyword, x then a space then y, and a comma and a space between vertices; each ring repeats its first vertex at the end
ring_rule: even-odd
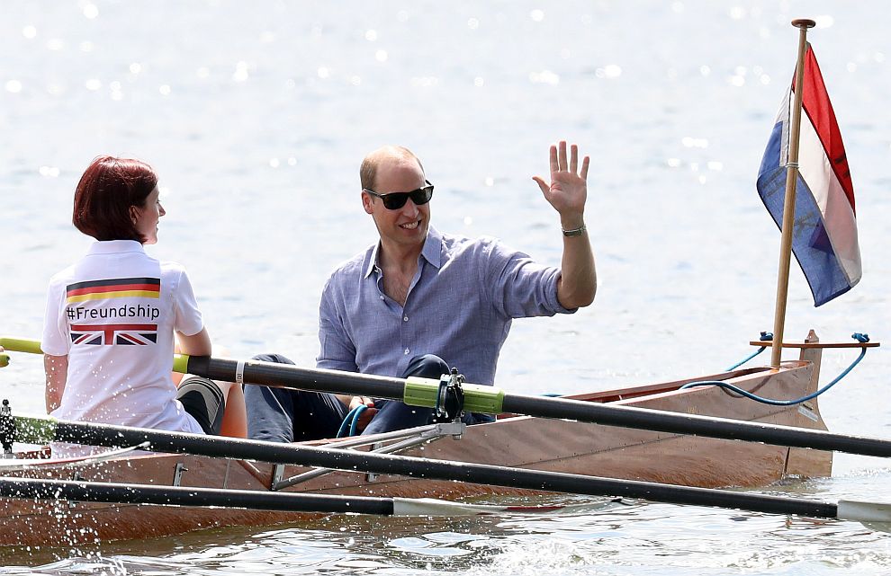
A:
POLYGON ((436 354, 465 381, 492 385, 513 318, 572 314, 557 300, 560 270, 491 237, 432 226, 405 306, 383 292, 380 243, 335 270, 322 291, 318 368, 399 377, 436 354))

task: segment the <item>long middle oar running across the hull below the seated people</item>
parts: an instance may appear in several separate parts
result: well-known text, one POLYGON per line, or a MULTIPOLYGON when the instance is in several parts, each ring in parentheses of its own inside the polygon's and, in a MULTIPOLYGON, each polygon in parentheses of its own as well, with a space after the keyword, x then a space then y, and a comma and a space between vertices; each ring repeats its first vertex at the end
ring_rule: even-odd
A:
POLYGON ((673 484, 510 468, 508 466, 392 456, 300 444, 229 439, 109 424, 56 421, 46 417, 15 416, 14 421, 19 435, 18 441, 22 442, 44 443, 55 440, 106 447, 135 446, 142 442, 148 442, 150 449, 156 452, 220 456, 275 464, 319 466, 347 472, 397 474, 542 492, 619 496, 670 504, 714 506, 769 514, 794 514, 806 517, 872 522, 891 521, 891 506, 878 502, 840 502, 836 504, 709 488, 690 488, 673 484))

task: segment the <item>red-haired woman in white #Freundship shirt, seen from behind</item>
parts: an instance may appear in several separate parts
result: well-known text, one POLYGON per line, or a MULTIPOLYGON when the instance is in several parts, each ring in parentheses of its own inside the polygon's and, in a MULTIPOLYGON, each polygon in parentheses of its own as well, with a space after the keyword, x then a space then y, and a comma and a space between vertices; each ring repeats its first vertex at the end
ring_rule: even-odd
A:
POLYGON ((47 412, 244 437, 240 386, 189 377, 177 390, 171 376, 174 334, 193 356, 210 356, 211 340, 184 268, 143 250, 157 243, 165 215, 157 195, 155 172, 138 160, 100 156, 78 182, 72 221, 97 242, 49 281, 41 341, 47 412))

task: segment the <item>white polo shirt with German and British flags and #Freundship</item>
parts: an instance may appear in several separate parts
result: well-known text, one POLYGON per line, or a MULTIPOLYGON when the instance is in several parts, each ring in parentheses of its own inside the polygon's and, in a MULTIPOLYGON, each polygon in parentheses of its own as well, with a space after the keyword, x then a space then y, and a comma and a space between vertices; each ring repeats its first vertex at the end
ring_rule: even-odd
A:
POLYGON ((68 357, 52 416, 201 434, 170 372, 174 331, 191 336, 202 327, 181 265, 148 257, 132 240, 96 242, 49 280, 40 346, 68 357))

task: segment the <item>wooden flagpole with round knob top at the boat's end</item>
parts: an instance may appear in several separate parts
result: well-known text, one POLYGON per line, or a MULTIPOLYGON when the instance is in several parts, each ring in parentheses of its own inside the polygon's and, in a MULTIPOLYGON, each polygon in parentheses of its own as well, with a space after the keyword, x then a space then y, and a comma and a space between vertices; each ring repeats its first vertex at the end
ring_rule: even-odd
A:
POLYGON ((783 204, 783 236, 779 246, 779 276, 777 278, 777 308, 773 320, 773 348, 770 366, 779 368, 783 353, 783 327, 786 323, 786 301, 789 291, 789 266, 792 261, 792 229, 795 218, 795 189, 798 180, 798 135, 801 131, 801 93, 804 92, 805 52, 807 29, 816 22, 799 18, 792 21, 798 31, 798 61, 795 68, 795 103, 792 106, 792 124, 789 127, 789 157, 786 164, 786 197, 783 204))

